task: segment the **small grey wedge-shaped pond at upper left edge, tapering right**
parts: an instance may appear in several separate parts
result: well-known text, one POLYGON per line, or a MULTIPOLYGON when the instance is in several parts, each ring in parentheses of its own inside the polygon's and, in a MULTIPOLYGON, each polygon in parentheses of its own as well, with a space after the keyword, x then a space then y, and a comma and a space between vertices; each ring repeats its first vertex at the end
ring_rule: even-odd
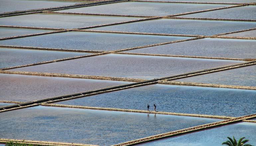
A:
POLYGON ((11 36, 21 36, 37 33, 52 32, 51 30, 35 30, 35 29, 19 29, 19 28, 5 28, 0 27, 0 38, 1 37, 11 37, 11 36))

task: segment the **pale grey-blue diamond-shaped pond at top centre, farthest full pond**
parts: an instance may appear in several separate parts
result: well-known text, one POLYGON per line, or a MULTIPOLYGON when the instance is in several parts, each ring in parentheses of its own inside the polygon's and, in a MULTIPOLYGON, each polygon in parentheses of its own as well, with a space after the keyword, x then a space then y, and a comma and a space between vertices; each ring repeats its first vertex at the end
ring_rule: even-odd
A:
POLYGON ((61 10, 60 12, 93 13, 137 16, 167 16, 186 12, 201 11, 231 5, 217 4, 185 4, 185 3, 151 3, 151 2, 119 2, 92 7, 61 10))

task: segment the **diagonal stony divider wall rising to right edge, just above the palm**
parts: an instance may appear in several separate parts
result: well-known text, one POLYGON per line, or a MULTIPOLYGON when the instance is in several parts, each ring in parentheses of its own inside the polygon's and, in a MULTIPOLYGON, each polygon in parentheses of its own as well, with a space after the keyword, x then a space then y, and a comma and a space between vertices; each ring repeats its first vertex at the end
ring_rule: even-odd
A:
POLYGON ((237 123, 237 122, 241 122, 242 120, 246 120, 246 119, 250 119, 250 118, 254 118, 254 117, 256 117, 256 114, 245 115, 245 116, 231 118, 231 119, 227 119, 227 120, 223 120, 223 121, 219 121, 219 122, 194 126, 194 127, 190 127, 190 128, 185 128, 185 129, 181 129, 181 130, 176 130, 176 131, 172 131, 172 132, 149 136, 149 137, 145 137, 145 138, 141 138, 141 139, 136 139, 136 140, 116 144, 113 146, 130 146, 130 145, 135 145, 135 144, 139 144, 139 143, 145 143, 145 142, 149 142, 149 141, 153 141, 153 140, 157 140, 157 139, 167 138, 167 137, 176 136, 176 135, 182 135, 182 134, 191 133, 191 132, 195 132, 195 131, 199 131, 199 130, 205 130, 205 129, 209 129, 209 128, 213 128, 213 127, 219 127, 219 126, 223 126, 223 125, 227 125, 227 124, 231 124, 231 123, 237 123))

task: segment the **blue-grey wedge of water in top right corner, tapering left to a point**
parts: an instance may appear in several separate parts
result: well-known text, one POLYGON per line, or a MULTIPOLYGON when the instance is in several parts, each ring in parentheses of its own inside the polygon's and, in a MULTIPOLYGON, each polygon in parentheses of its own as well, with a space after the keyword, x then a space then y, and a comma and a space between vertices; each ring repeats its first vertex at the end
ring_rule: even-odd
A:
POLYGON ((196 14, 182 15, 185 18, 256 19, 256 6, 243 6, 196 14))

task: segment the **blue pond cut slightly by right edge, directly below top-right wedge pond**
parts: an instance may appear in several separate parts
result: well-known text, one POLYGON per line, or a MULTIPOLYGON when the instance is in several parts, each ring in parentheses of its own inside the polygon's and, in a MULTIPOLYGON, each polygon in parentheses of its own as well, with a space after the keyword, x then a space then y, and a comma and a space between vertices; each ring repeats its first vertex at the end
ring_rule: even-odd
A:
POLYGON ((92 28, 90 30, 211 36, 255 27, 256 22, 157 19, 92 28))

